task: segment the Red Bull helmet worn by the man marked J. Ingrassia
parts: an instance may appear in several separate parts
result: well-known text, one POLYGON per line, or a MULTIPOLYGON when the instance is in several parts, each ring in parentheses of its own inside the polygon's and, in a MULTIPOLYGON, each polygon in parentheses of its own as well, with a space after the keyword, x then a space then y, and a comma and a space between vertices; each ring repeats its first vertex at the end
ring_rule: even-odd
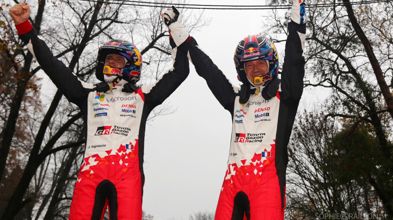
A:
POLYGON ((142 55, 138 48, 125 40, 111 40, 98 50, 98 64, 95 75, 100 81, 104 81, 104 72, 107 75, 116 75, 129 83, 137 83, 140 80, 142 70, 142 55), (124 68, 112 68, 105 66, 107 55, 121 55, 126 59, 124 68))

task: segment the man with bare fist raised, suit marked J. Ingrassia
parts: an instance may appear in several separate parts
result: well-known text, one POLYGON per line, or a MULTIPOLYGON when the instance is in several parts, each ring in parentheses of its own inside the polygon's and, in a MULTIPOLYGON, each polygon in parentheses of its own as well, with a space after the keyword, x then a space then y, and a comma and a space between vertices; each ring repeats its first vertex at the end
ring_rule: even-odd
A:
POLYGON ((154 84, 137 86, 142 57, 135 45, 112 40, 98 53, 99 84, 84 83, 56 59, 30 25, 30 10, 10 9, 18 34, 42 70, 83 113, 87 127, 84 161, 75 183, 70 220, 100 220, 109 206, 111 220, 140 220, 144 133, 147 116, 189 73, 186 50, 170 40, 173 68, 154 84))

